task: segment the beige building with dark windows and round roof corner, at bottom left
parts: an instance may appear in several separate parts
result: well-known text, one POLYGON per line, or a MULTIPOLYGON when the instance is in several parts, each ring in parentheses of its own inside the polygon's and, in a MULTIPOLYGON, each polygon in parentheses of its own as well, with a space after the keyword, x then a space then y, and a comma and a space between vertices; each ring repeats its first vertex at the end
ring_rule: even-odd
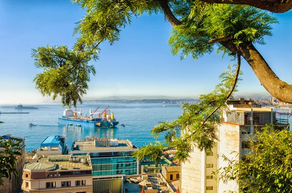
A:
POLYGON ((23 193, 92 193, 89 156, 39 158, 24 166, 23 193))

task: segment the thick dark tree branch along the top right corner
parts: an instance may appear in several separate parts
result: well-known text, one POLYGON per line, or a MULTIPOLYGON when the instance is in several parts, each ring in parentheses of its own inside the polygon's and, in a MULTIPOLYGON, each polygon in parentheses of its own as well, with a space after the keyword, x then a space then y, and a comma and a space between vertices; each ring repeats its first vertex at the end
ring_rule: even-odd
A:
POLYGON ((201 0, 207 3, 251 5, 274 13, 285 13, 292 9, 292 0, 201 0))

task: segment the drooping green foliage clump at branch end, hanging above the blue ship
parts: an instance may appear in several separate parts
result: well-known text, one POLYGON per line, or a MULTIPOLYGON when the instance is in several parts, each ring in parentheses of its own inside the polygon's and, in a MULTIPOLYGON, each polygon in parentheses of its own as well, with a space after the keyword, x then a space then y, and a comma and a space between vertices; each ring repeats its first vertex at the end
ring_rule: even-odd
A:
POLYGON ((35 66, 43 70, 34 79, 36 88, 43 96, 58 95, 62 105, 76 106, 82 103, 86 94, 90 74, 96 73, 91 59, 97 59, 97 49, 81 46, 79 50, 69 50, 67 46, 38 47, 32 50, 35 66))

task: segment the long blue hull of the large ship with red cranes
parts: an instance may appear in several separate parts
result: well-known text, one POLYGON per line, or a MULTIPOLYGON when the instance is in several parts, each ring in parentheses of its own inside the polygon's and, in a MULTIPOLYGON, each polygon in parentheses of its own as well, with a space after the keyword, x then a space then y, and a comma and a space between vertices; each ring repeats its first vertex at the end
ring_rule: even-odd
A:
POLYGON ((119 122, 117 121, 97 121, 78 120, 73 118, 58 118, 59 124, 66 124, 69 126, 89 127, 89 128, 112 128, 119 122))

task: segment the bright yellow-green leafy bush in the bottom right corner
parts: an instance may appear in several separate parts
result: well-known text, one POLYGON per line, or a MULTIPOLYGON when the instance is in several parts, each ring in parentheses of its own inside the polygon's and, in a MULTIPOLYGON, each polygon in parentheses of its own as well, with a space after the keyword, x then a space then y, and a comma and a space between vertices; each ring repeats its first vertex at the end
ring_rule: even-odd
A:
MULTIPOLYGON (((292 190, 292 132, 277 131, 272 125, 256 132, 249 141, 251 152, 245 160, 229 160, 217 171, 226 183, 236 180, 239 193, 289 193, 292 190)), ((234 193, 234 191, 229 191, 234 193)))

